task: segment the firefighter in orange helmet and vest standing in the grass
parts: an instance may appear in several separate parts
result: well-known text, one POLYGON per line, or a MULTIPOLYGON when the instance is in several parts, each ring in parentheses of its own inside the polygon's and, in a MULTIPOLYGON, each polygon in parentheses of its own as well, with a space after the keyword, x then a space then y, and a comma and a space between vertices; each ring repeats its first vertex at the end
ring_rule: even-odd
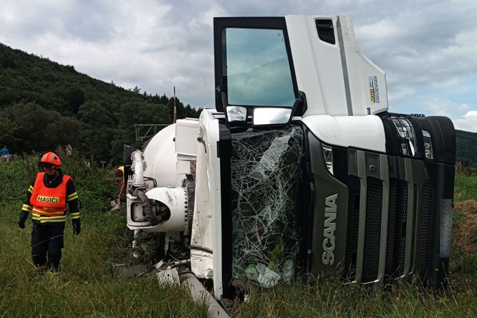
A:
POLYGON ((60 271, 62 248, 64 247, 64 225, 66 204, 73 223, 73 233, 81 232, 78 195, 73 178, 60 169, 61 160, 48 152, 38 162, 42 169, 27 191, 27 198, 19 215, 19 227, 32 213, 32 260, 39 273, 60 271))

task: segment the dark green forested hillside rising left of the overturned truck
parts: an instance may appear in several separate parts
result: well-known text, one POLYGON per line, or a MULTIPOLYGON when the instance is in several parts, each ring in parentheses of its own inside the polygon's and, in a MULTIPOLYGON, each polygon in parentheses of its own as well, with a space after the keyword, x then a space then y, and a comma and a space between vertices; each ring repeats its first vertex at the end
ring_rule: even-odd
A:
MULTIPOLYGON (((201 108, 175 99, 178 118, 201 108)), ((11 154, 42 152, 71 144, 99 162, 122 158, 134 145, 135 124, 172 123, 173 97, 125 89, 0 43, 0 147, 11 154)))

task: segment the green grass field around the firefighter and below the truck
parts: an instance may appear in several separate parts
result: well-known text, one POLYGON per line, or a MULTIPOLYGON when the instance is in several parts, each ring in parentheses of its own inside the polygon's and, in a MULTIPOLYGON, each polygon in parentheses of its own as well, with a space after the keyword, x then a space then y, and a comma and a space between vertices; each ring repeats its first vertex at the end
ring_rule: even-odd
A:
MULTIPOLYGON (((75 176, 82 233, 74 236, 68 220, 62 272, 38 276, 30 260, 31 222, 24 230, 16 225, 36 173, 35 159, 0 162, 4 180, 0 184, 0 317, 206 317, 206 305, 193 302, 190 291, 158 284, 154 273, 113 277, 113 264, 132 261, 132 233, 126 229, 123 211, 108 211, 117 193, 112 171, 86 169, 68 160, 64 170, 75 176)), ((268 290, 251 286, 247 302, 232 305, 233 317, 475 317, 477 232, 473 238, 468 225, 477 216, 472 210, 476 184, 476 177, 456 177, 454 250, 458 256, 451 263, 446 293, 413 285, 373 292, 335 280, 268 290), (463 230, 469 231, 469 237, 458 235, 463 230)))

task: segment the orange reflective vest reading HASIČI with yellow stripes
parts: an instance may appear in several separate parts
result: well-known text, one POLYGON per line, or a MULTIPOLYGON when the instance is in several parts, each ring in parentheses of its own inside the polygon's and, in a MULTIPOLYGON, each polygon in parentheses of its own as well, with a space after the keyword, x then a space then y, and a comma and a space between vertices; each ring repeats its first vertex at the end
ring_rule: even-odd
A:
POLYGON ((33 206, 32 219, 45 222, 64 222, 66 216, 66 184, 70 179, 69 175, 63 175, 63 180, 56 188, 47 188, 45 182, 45 173, 40 172, 36 175, 33 186, 30 204, 33 206))

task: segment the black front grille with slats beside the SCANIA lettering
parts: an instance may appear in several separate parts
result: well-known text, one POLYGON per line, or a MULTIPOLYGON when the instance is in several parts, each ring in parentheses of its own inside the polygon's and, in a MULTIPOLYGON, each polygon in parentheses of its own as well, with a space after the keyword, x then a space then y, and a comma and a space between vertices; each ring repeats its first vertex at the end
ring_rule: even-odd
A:
MULTIPOLYGON (((424 280, 428 274, 431 235, 432 185, 430 180, 422 180, 421 182, 424 182, 422 184, 419 183, 420 180, 401 179, 399 174, 395 173, 391 173, 394 177, 387 180, 369 175, 365 178, 358 177, 348 172, 348 169, 352 167, 349 160, 353 160, 353 156, 348 157, 345 149, 333 148, 334 177, 348 189, 343 277, 363 284, 406 278, 410 274, 417 274, 424 280), (389 184, 384 187, 386 182, 389 184), (364 186, 366 197, 360 197, 364 186), (387 191, 389 192, 386 193, 387 191), (384 196, 389 198, 386 232, 382 232, 384 196), (366 200, 365 211, 361 211, 365 213, 364 226, 360 225, 361 200, 366 200), (412 222, 412 225, 409 222, 412 222), (360 226, 364 232, 360 232, 360 226), (361 249, 358 244, 360 239, 364 242, 361 249), (386 242, 385 251, 384 245, 381 245, 382 240, 386 242), (381 253, 385 255, 380 256, 381 253)), ((394 171, 393 169, 395 167, 390 168, 390 171, 394 171)), ((406 166, 406 169, 409 169, 409 166, 406 166)))

